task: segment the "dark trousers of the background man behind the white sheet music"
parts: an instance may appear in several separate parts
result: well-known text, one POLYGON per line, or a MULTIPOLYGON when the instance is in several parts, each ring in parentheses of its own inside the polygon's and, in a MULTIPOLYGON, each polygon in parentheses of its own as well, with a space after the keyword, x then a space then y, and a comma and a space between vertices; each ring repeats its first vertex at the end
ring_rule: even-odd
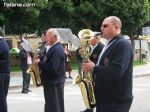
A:
POLYGON ((22 90, 28 90, 30 86, 30 75, 27 73, 27 67, 22 68, 22 75, 23 75, 23 86, 22 90))

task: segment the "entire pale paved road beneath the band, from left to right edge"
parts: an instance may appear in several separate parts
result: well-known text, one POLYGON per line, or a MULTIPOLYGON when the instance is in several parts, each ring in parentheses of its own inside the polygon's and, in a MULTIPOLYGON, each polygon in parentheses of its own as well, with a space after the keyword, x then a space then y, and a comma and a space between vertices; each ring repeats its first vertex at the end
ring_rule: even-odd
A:
MULTIPOLYGON (((134 78, 134 102, 130 112, 150 112, 150 76, 134 78)), ((8 112, 43 112, 43 89, 31 88, 29 94, 22 94, 21 88, 10 89, 8 94, 8 112)), ((82 95, 78 86, 65 85, 66 112, 79 112, 84 109, 82 95)))

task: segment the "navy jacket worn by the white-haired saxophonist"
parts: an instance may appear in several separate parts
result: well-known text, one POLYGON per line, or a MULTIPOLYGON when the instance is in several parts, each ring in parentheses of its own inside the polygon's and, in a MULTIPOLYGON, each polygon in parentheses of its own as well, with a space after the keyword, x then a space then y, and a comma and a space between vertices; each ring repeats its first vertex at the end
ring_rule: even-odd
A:
POLYGON ((43 85, 57 85, 65 81, 65 54, 61 43, 53 45, 39 62, 43 85))

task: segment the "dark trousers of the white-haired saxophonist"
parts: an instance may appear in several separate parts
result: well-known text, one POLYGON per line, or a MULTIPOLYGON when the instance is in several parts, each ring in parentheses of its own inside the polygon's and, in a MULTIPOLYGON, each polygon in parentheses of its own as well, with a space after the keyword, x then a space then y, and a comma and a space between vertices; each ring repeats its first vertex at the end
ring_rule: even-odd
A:
POLYGON ((44 86, 45 111, 64 112, 64 83, 44 86))

